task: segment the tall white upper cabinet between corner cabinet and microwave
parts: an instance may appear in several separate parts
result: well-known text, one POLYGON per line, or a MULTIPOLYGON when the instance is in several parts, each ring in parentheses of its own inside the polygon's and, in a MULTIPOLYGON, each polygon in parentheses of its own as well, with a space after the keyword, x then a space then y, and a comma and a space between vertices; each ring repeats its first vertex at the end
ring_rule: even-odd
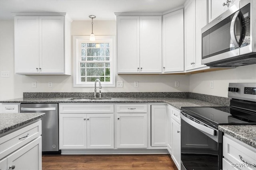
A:
POLYGON ((202 58, 202 33, 201 29, 207 24, 206 0, 190 0, 185 8, 185 70, 204 67, 202 58))

